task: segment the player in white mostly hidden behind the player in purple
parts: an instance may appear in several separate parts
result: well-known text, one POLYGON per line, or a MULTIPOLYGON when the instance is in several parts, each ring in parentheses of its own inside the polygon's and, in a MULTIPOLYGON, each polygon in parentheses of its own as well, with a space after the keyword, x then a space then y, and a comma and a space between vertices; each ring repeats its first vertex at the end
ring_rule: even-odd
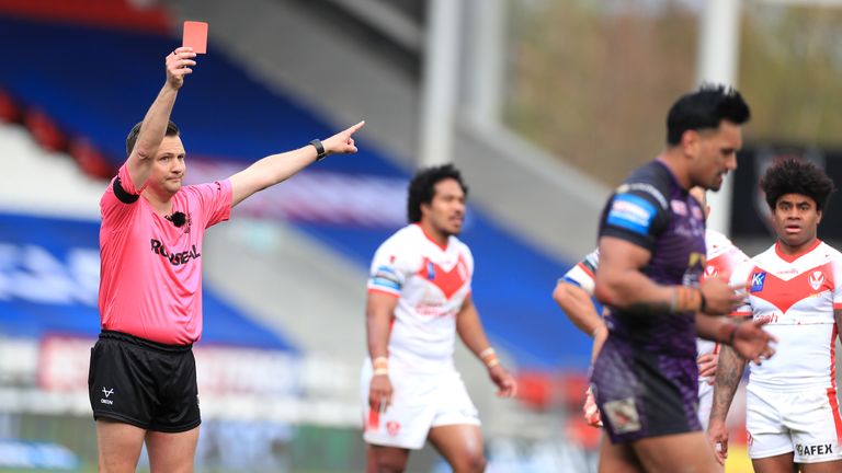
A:
MULTIPOLYGON (((693 187, 690 193, 705 208, 705 214, 710 212, 707 206, 705 191, 701 187, 693 187)), ((704 278, 722 278, 728 280, 737 265, 748 259, 748 256, 740 251, 727 236, 716 230, 707 229, 705 231, 705 246, 707 263, 705 264, 704 278)), ((559 279, 556 289, 553 291, 553 299, 565 311, 570 321, 585 334, 593 336, 593 350, 591 361, 596 357, 600 347, 605 343, 608 332, 605 323, 596 313, 591 297, 593 296, 594 273, 600 265, 600 251, 585 255, 585 257, 576 264, 565 276, 559 279)), ((719 346, 702 337, 696 338, 696 351, 698 354, 698 418, 703 428, 707 427, 707 419, 710 413, 710 403, 713 400, 713 377, 716 373, 719 346)), ((602 425, 600 412, 593 400, 593 393, 590 389, 587 392, 585 404, 583 407, 585 420, 593 426, 602 425)))

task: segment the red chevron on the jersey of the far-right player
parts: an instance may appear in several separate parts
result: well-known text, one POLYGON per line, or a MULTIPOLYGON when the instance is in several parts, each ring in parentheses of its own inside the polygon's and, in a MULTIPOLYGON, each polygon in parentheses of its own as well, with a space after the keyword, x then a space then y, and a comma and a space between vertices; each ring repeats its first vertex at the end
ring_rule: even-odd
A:
MULTIPOLYGON (((754 272, 760 269, 755 268, 754 272)), ((832 263, 817 266, 788 280, 766 272, 763 289, 751 295, 775 305, 782 313, 786 313, 796 302, 824 291, 833 291, 832 263)))

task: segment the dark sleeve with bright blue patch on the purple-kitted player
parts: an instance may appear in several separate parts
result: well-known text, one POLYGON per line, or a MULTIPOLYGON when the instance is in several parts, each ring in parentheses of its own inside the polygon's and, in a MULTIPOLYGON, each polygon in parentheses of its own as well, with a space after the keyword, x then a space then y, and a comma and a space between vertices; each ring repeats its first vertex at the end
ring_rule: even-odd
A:
POLYGON ((669 219, 669 211, 652 193, 639 189, 617 192, 611 196, 602 212, 600 236, 619 238, 652 251, 669 219))

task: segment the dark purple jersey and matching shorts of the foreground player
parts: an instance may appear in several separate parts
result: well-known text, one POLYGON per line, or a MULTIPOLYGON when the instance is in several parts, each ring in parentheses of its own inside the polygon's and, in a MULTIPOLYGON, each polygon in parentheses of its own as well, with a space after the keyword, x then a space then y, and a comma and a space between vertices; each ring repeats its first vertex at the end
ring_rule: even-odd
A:
MULTIPOLYGON (((698 201, 653 161, 617 187, 600 236, 648 250, 651 258, 640 272, 655 282, 697 287, 705 267, 704 218, 698 201)), ((610 335, 591 382, 612 441, 701 430, 695 314, 608 309, 610 335)))

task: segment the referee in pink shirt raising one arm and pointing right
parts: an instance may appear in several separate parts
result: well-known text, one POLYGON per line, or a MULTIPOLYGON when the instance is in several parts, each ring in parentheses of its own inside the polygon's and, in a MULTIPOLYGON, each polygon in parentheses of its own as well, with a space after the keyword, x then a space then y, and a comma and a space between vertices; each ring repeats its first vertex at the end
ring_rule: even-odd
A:
POLYGON ((202 337, 205 229, 314 161, 356 152, 352 136, 363 126, 226 180, 182 186, 185 152, 169 118, 195 57, 189 47, 167 56, 163 88, 129 132, 128 159, 100 201, 102 333, 88 388, 101 472, 134 472, 144 442, 151 471, 193 471, 202 420, 192 344, 202 337))

